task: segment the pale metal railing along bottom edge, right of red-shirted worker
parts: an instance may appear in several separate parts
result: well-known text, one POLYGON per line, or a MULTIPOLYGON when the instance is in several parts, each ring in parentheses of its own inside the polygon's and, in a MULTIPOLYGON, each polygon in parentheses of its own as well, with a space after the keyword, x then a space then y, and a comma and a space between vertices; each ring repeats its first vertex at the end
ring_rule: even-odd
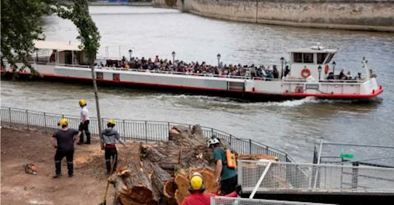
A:
MULTIPOLYGON (((327 203, 309 203, 298 201, 278 201, 267 199, 247 199, 216 196, 211 197, 211 205, 330 205, 327 203)), ((333 204, 331 204, 333 205, 333 204)))

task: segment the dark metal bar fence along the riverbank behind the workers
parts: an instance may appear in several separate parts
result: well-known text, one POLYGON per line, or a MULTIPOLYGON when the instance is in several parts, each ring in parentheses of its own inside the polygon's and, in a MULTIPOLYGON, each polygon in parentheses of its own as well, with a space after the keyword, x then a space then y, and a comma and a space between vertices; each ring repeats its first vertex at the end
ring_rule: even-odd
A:
MULTIPOLYGON (((18 127, 27 130, 36 130, 40 132, 53 132, 58 128, 57 123, 61 118, 69 119, 69 126, 78 128, 80 117, 64 114, 53 114, 47 112, 36 112, 22 110, 18 108, 8 108, 0 106, 0 125, 8 127, 18 127)), ((102 125, 106 125, 108 119, 102 119, 102 125)), ((141 140, 141 141, 159 141, 168 140, 169 130, 176 125, 193 127, 192 125, 162 121, 142 121, 116 119, 115 129, 124 140, 141 140)), ((294 162, 287 153, 278 149, 269 147, 251 139, 241 139, 210 127, 201 127, 206 138, 216 135, 226 140, 239 153, 245 154, 266 154, 273 155, 281 162, 294 162)), ((99 128, 97 118, 91 117, 89 130, 92 136, 98 136, 99 128)))

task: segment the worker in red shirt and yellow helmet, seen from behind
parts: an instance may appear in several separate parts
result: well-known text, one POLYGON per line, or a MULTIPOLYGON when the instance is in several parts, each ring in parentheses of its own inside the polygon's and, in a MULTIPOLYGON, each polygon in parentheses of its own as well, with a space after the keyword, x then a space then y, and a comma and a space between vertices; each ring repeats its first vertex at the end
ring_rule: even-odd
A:
MULTIPOLYGON (((205 188, 204 188, 204 179, 203 176, 195 172, 193 175, 190 177, 190 196, 186 197, 182 205, 210 205, 210 198, 212 196, 217 196, 212 193, 204 193, 205 188)), ((241 191, 241 187, 237 187, 238 193, 241 191)), ((230 194, 225 195, 226 197, 237 197, 237 192, 234 191, 230 194)))

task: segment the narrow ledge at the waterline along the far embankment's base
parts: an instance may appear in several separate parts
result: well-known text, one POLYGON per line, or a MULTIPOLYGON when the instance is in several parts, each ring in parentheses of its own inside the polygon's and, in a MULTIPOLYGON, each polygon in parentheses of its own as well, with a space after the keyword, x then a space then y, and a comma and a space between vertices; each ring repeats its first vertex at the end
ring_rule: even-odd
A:
POLYGON ((249 19, 240 17, 223 16, 217 14, 202 13, 199 11, 189 10, 188 12, 208 17, 213 19, 231 20, 236 22, 249 22, 257 24, 279 25, 279 26, 292 26, 300 28, 324 28, 324 29, 337 29, 337 30, 353 30, 353 31, 371 31, 371 32, 388 32, 394 33, 394 27, 389 26, 368 26, 368 25, 350 25, 350 24, 320 24, 320 23, 304 23, 304 22, 291 22, 281 20, 265 20, 265 19, 249 19))

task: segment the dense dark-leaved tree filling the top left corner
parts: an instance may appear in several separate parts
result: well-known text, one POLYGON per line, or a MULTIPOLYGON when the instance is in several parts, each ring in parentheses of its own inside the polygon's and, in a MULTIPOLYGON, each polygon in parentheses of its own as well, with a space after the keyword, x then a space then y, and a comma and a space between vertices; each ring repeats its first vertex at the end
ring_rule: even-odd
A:
POLYGON ((11 68, 30 68, 29 56, 34 50, 33 40, 43 39, 41 17, 52 9, 42 0, 0 0, 0 67, 5 67, 5 60, 11 68), (16 63, 22 62, 18 68, 16 63))

